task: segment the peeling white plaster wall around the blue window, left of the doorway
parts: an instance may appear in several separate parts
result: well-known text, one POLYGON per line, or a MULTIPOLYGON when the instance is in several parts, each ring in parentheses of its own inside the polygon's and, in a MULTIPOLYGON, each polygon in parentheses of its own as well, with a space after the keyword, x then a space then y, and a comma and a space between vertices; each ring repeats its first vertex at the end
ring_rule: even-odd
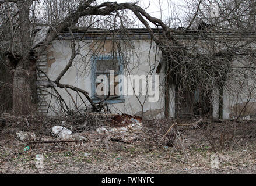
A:
MULTIPOLYGON (((47 76, 50 80, 55 80, 59 73, 64 69, 66 64, 69 62, 71 57, 71 41, 55 40, 52 42, 52 47, 48 48, 47 51, 47 76)), ((122 57, 125 58, 125 67, 124 75, 136 74, 141 76, 142 74, 147 76, 152 73, 155 74, 155 70, 152 71, 154 66, 157 66, 160 58, 161 52, 156 48, 155 44, 151 40, 133 40, 131 42, 132 48, 127 44, 119 44, 124 47, 125 52, 122 53, 122 57)), ((77 45, 76 45, 77 46, 77 45)), ((117 46, 113 44, 111 40, 106 41, 97 41, 97 40, 84 40, 80 42, 80 55, 76 56, 73 66, 66 72, 66 74, 61 78, 60 83, 74 85, 78 88, 89 92, 89 95, 92 95, 93 91, 91 90, 92 84, 92 61, 91 57, 95 53, 97 55, 111 55, 113 50, 117 51, 117 46)), ((119 46, 120 47, 120 46, 119 46)), ((163 69, 160 71, 160 98, 157 102, 148 102, 147 96, 135 96, 127 95, 124 96, 125 100, 122 103, 112 103, 108 104, 113 113, 129 113, 131 115, 142 114, 143 105, 143 117, 163 117, 164 116, 164 91, 162 90, 162 84, 164 79, 163 69), (146 99, 146 101, 145 101, 146 99), (140 103, 141 102, 141 103, 140 103)), ((68 103, 70 108, 75 109, 72 99, 66 93, 66 91, 60 88, 57 88, 58 92, 61 94, 62 98, 65 99, 65 102, 68 103)), ((79 109, 84 107, 82 100, 75 91, 68 90, 72 97, 75 99, 79 109)), ((51 92, 51 89, 48 88, 48 92, 51 92)), ((171 94, 171 92, 170 92, 171 94)), ((171 94, 170 100, 174 101, 173 95, 171 94)), ((89 102, 86 98, 83 99, 88 105, 89 102)), ((56 115, 59 110, 58 102, 55 98, 52 98, 50 95, 47 96, 47 102, 50 104, 50 109, 48 110, 48 115, 56 115)), ((170 104, 171 105, 171 104, 170 104)), ((170 115, 174 116, 173 105, 170 106, 170 115)))

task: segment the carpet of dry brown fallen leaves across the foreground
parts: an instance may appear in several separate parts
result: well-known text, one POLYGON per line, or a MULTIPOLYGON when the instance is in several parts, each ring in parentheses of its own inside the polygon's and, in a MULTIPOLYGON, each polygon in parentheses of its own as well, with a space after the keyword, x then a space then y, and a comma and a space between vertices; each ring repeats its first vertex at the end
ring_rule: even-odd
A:
MULTIPOLYGON (((10 174, 94 174, 94 173, 255 173, 255 142, 244 142, 243 146, 218 151, 219 169, 211 169, 210 157, 215 152, 209 148, 204 138, 204 130, 186 130, 184 144, 188 158, 181 146, 152 146, 143 141, 127 144, 121 141, 96 141, 99 136, 85 132, 88 137, 83 143, 26 144, 14 137, 6 136, 0 141, 0 173, 10 174), (24 151, 24 148, 29 149, 24 151), (37 154, 44 155, 44 169, 33 166, 37 154)), ((52 137, 43 136, 44 140, 52 137)))

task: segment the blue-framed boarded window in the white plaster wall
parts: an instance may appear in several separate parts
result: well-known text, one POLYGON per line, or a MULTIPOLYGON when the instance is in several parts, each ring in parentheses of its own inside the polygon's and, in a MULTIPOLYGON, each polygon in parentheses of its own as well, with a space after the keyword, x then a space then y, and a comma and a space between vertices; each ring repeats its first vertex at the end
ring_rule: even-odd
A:
MULTIPOLYGON (((92 88, 92 100, 94 103, 100 102, 103 99, 106 99, 107 96, 98 96, 96 94, 96 77, 103 74, 108 77, 110 70, 114 70, 114 75, 123 74, 124 66, 122 63, 121 56, 112 56, 112 55, 100 55, 100 56, 92 56, 92 77, 91 77, 91 88, 92 88)), ((118 83, 118 86, 121 85, 121 80, 118 83)), ((109 86, 109 78, 108 78, 108 86, 109 86)), ((109 90, 109 88, 108 88, 109 90)), ((119 91, 122 91, 122 86, 120 86, 119 91)), ((124 102, 124 95, 114 95, 108 96, 105 103, 121 103, 124 102)))

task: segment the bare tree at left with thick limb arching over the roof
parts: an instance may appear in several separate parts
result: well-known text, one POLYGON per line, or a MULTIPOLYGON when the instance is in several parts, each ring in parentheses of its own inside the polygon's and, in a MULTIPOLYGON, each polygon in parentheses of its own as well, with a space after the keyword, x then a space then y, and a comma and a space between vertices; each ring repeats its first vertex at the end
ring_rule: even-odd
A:
MULTIPOLYGON (((16 115, 26 115, 32 109, 31 104, 31 79, 36 70, 36 61, 51 41, 65 29, 74 26, 82 17, 91 15, 118 15, 118 10, 130 9, 136 15, 148 16, 153 22, 160 20, 153 19, 146 12, 136 6, 135 3, 112 3, 104 2, 99 5, 93 0, 89 1, 0 1, 1 5, 1 52, 9 59, 9 65, 13 71, 13 111, 16 115), (46 7, 43 19, 39 8, 46 7), (141 12, 141 13, 139 13, 141 12), (41 19, 38 19, 40 18, 41 19), (34 28, 44 23, 50 27, 44 41, 33 45, 34 28)), ((90 20, 90 18, 89 18, 90 20)), ((92 21, 92 20, 90 20, 92 21)), ((107 21, 107 20, 106 20, 107 21)), ((160 22, 162 23, 162 22, 160 22)), ((163 24, 164 25, 164 24, 163 24)), ((65 72, 64 72, 65 73, 65 72)), ((61 78, 61 76, 59 77, 61 78)), ((58 80, 59 80, 58 78, 58 80)), ((58 84, 58 87, 78 88, 58 84)), ((82 91, 89 99, 86 91, 82 91)))

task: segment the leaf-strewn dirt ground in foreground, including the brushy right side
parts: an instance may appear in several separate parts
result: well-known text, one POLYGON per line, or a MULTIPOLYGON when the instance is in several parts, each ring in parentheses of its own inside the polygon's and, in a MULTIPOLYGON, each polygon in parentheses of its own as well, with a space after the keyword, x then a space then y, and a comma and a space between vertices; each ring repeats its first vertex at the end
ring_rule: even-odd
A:
POLYGON ((256 174, 255 121, 191 123, 179 122, 173 147, 143 140, 106 142, 93 130, 80 133, 87 142, 55 144, 29 144, 15 134, 2 133, 0 173, 256 174), (35 156, 42 153, 44 168, 37 169, 35 156))

